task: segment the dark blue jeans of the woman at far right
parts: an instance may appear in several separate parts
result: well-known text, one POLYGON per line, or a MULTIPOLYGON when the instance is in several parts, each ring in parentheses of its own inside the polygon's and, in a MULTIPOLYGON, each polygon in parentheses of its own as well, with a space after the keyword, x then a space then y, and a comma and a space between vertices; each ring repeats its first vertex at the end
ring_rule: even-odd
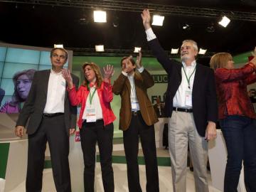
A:
POLYGON ((220 120, 228 150, 224 191, 237 191, 242 160, 247 191, 256 191, 256 126, 255 119, 230 115, 220 120))

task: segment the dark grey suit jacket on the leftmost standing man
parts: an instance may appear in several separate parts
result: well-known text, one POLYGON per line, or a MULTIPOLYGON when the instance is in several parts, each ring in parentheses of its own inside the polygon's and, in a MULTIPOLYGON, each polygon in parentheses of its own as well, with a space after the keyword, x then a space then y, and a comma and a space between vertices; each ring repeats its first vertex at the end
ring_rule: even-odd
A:
MULTIPOLYGON (((48 80, 50 77, 50 70, 39 70, 36 71, 31 90, 28 94, 28 98, 18 116, 16 126, 25 126, 28 121, 27 134, 33 134, 38 129, 43 118, 43 110, 46 106, 47 91, 48 91, 48 80)), ((78 87, 79 79, 72 74, 73 82, 78 87)), ((67 83, 66 83, 67 85, 67 83)), ((65 91, 65 104, 64 104, 64 116, 65 116, 65 127, 69 134, 69 129, 75 128, 77 119, 77 107, 70 105, 68 100, 68 92, 65 91)))

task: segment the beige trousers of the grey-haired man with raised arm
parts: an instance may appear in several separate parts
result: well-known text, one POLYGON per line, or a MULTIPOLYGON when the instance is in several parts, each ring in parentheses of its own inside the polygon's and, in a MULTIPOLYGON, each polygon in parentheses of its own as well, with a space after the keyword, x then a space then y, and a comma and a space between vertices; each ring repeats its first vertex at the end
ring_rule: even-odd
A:
POLYGON ((208 143, 201 137, 193 113, 174 111, 168 122, 169 153, 174 192, 186 192, 188 144, 193 162, 196 192, 208 192, 208 143))

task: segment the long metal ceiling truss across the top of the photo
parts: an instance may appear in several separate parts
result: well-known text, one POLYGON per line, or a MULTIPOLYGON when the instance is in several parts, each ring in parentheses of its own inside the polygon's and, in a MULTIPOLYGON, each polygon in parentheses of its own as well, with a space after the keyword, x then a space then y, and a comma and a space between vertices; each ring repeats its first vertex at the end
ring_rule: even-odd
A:
POLYGON ((220 9, 196 8, 188 6, 171 6, 165 4, 148 4, 131 1, 113 1, 113 0, 0 0, 14 4, 33 4, 46 6, 69 6, 80 9, 104 9, 114 11, 132 11, 141 13, 143 9, 149 9, 152 13, 162 14, 164 16, 196 16, 218 18, 228 16, 230 19, 241 21, 256 21, 256 13, 242 11, 228 11, 220 9))

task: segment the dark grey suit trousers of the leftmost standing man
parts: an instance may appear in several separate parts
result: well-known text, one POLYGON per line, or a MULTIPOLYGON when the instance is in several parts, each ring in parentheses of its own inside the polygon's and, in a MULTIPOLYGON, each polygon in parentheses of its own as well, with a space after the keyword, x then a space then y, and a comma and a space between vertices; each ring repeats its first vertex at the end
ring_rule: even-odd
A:
POLYGON ((69 137, 65 129, 64 114, 43 117, 37 132, 28 135, 26 191, 38 192, 42 189, 46 142, 50 148, 55 188, 58 192, 70 192, 69 137))

